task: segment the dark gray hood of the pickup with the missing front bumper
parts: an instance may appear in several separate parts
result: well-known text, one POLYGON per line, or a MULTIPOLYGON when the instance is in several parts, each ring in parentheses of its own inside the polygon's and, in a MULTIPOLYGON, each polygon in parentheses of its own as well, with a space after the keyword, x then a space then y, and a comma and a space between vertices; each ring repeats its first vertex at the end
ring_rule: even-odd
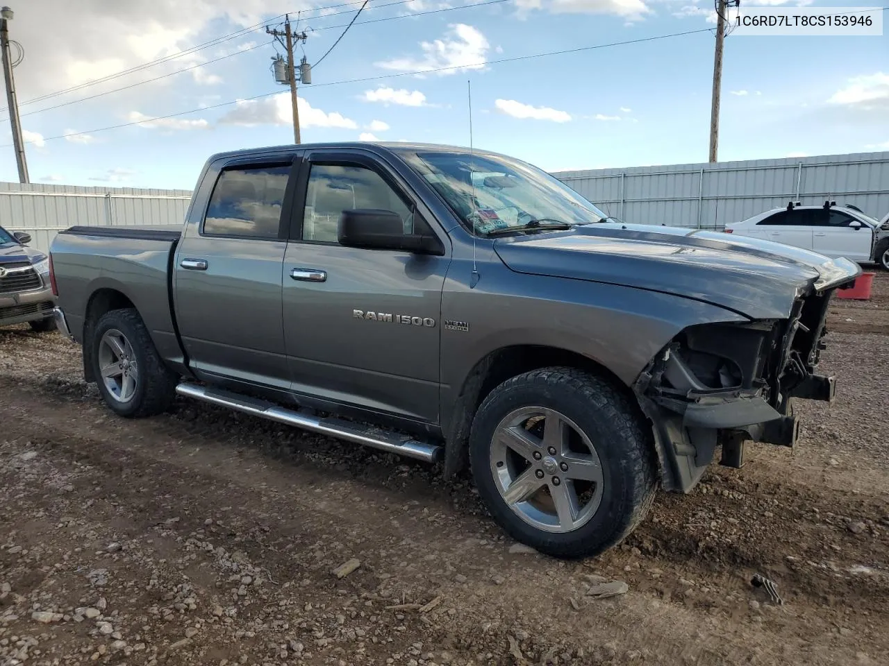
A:
POLYGON ((798 295, 853 281, 861 267, 756 238, 607 222, 499 238, 517 273, 607 282, 694 298, 751 319, 788 317, 798 295))

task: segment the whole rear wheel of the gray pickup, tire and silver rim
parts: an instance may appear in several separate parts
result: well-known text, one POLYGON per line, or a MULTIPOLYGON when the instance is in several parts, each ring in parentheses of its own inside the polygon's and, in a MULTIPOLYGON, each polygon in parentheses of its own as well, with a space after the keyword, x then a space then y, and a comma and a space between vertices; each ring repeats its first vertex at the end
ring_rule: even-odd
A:
POLYGON ((109 408, 121 416, 152 416, 170 407, 177 377, 164 365, 135 309, 103 314, 92 345, 93 376, 109 408))

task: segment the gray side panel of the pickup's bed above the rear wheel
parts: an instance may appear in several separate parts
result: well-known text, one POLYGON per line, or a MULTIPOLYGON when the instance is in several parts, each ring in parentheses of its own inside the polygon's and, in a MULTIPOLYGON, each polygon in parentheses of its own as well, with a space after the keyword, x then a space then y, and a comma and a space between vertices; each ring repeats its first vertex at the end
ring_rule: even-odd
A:
POLYGON ((111 298, 116 306, 136 307, 158 352, 172 363, 181 361, 171 289, 180 235, 178 226, 72 226, 56 236, 53 271, 78 343, 91 303, 111 298))

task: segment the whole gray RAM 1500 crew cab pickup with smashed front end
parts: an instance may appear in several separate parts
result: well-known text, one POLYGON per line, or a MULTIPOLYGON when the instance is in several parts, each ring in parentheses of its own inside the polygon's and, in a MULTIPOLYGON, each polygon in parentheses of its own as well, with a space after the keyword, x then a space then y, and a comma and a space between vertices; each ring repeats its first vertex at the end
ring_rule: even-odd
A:
MULTIPOLYGON (((656 222, 656 220, 653 220, 656 222)), ((528 163, 310 144, 204 165, 184 227, 71 227, 57 321, 122 416, 176 393, 469 464, 509 535, 595 555, 657 488, 792 446, 828 305, 861 268, 623 224, 528 163)))

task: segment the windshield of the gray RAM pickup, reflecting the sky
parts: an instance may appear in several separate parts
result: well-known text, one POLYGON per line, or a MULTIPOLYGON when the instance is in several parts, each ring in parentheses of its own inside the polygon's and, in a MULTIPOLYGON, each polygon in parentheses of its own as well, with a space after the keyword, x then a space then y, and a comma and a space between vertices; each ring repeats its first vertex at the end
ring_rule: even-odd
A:
POLYGON ((602 222, 604 212, 531 164, 501 155, 404 153, 404 160, 479 234, 602 222))

